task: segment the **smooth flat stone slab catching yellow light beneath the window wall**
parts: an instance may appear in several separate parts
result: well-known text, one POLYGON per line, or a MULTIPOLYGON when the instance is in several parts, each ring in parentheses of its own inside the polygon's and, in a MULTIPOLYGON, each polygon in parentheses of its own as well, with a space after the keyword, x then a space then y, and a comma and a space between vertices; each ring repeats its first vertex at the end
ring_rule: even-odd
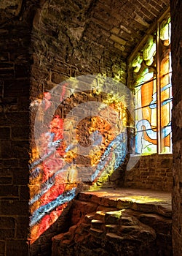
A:
POLYGON ((100 189, 80 192, 78 199, 106 208, 128 208, 164 217, 171 217, 172 214, 170 194, 165 192, 150 192, 142 189, 100 189))

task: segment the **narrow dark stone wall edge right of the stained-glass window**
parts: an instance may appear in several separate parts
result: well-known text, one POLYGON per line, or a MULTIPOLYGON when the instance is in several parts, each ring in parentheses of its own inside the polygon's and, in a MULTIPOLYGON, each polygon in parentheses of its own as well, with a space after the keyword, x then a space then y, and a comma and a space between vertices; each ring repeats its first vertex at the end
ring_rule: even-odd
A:
POLYGON ((173 83, 173 255, 182 254, 182 2, 171 1, 173 83))

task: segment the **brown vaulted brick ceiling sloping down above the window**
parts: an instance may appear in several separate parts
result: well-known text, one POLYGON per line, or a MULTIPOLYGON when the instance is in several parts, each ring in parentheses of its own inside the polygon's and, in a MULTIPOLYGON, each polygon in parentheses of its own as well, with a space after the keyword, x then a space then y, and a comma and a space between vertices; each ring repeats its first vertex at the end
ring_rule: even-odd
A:
POLYGON ((84 41, 90 47, 82 50, 107 48, 125 58, 168 6, 169 0, 7 0, 0 2, 0 22, 26 19, 34 10, 41 17, 36 29, 56 38, 57 44, 69 37, 75 54, 78 42, 84 41))

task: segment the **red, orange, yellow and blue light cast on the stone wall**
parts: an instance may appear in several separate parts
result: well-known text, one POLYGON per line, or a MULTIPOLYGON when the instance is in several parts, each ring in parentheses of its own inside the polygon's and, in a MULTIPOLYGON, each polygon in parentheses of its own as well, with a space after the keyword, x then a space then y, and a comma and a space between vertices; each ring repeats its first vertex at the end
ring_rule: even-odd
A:
POLYGON ((91 78, 61 83, 39 104, 30 166, 31 243, 60 217, 78 184, 100 187, 126 157, 121 83, 91 78))

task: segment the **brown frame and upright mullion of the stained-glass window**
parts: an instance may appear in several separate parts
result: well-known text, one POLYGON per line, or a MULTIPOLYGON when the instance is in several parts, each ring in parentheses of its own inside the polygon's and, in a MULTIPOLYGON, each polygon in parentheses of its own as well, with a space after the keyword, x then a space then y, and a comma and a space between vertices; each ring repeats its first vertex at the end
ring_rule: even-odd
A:
MULTIPOLYGON (((151 80, 156 80, 156 86, 157 86, 157 152, 148 152, 147 154, 143 154, 143 153, 139 153, 141 155, 150 155, 150 154, 173 154, 172 152, 172 140, 171 140, 171 132, 170 132, 170 151, 163 151, 162 152, 162 101, 161 101, 161 94, 162 94, 162 86, 161 86, 161 81, 162 78, 160 77, 161 75, 161 63, 162 61, 165 59, 163 58, 162 61, 160 61, 160 58, 162 56, 161 53, 161 37, 160 37, 160 26, 163 22, 163 20, 170 18, 170 8, 168 8, 162 15, 161 17, 151 26, 151 28, 146 32, 145 36, 143 37, 143 39, 141 40, 140 44, 138 44, 138 46, 135 48, 135 50, 133 50, 132 54, 130 55, 130 57, 128 58, 128 63, 127 63, 127 67, 128 67, 128 77, 127 77, 127 85, 128 87, 135 92, 135 88, 137 88, 138 86, 133 86, 134 85, 134 79, 133 79, 133 67, 132 67, 132 60, 135 58, 135 56, 141 52, 141 50, 144 48, 144 45, 146 45, 147 39, 149 38, 150 35, 154 35, 154 33, 156 33, 156 74, 155 74, 155 78, 153 76, 153 78, 151 80)), ((170 54, 170 42, 169 45, 167 46, 168 52, 170 54)), ((168 57, 167 57, 168 58, 168 57)), ((170 58, 170 57, 169 57, 170 58)), ((171 61, 171 59, 170 59, 171 61)), ((169 62, 170 63, 170 62, 169 62)), ((172 70, 169 69, 170 72, 168 72, 165 75, 168 75, 168 79, 170 80, 169 85, 171 84, 171 72, 172 70)), ((149 83, 149 80, 145 81, 144 83, 141 83, 141 86, 143 86, 144 84, 149 83)), ((164 86, 165 87, 165 86, 164 86)), ((171 90, 171 89, 170 89, 171 90)), ((169 98, 172 101, 172 96, 169 98)), ((164 100, 165 102, 165 100, 164 100)), ((143 107, 142 107, 143 108, 143 107)), ((169 107, 171 110, 171 107, 169 107)), ((135 111, 135 110, 134 110, 135 111)), ((171 116, 171 113, 169 113, 169 118, 171 116)), ((142 120, 142 119, 141 119, 142 120)), ((164 129, 166 127, 171 127, 171 119, 170 119, 170 123, 167 124, 166 126, 164 126, 164 129), (170 125, 169 125, 170 124, 170 125)), ((135 129, 135 124, 133 125, 133 127, 135 129)), ((146 129, 144 129, 144 131, 146 131, 146 129)), ((135 132, 134 132, 135 134, 135 132)), ((136 135, 134 135, 136 136, 136 135)), ((165 146, 164 146, 165 148, 165 146)), ((138 153, 134 153, 134 155, 137 155, 138 153)))

